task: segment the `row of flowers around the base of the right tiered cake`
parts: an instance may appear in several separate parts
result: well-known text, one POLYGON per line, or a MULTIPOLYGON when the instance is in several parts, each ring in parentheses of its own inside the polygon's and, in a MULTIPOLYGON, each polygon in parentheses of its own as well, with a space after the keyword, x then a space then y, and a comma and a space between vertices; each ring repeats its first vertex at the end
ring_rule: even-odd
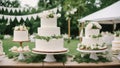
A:
POLYGON ((99 44, 94 44, 94 45, 83 45, 83 44, 78 44, 78 47, 80 50, 103 50, 107 48, 107 45, 105 43, 99 45, 99 44))

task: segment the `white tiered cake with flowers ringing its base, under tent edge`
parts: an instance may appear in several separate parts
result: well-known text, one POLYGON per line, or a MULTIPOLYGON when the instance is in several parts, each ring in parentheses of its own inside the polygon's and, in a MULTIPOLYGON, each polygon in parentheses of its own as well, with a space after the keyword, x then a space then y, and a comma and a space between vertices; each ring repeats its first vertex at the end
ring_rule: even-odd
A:
POLYGON ((82 42, 78 44, 80 50, 103 50, 107 46, 102 40, 100 35, 101 25, 97 22, 89 23, 85 28, 85 37, 82 38, 82 42))

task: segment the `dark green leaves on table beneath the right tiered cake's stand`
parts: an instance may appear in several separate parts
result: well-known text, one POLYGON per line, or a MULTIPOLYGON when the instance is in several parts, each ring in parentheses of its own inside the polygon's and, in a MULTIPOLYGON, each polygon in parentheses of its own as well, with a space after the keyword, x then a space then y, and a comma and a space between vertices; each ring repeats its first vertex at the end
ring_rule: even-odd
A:
POLYGON ((98 62, 110 62, 107 58, 103 56, 98 56, 98 60, 94 60, 89 58, 90 54, 86 54, 84 57, 81 57, 81 54, 76 54, 75 57, 73 58, 73 61, 76 61, 78 63, 98 63, 98 62))

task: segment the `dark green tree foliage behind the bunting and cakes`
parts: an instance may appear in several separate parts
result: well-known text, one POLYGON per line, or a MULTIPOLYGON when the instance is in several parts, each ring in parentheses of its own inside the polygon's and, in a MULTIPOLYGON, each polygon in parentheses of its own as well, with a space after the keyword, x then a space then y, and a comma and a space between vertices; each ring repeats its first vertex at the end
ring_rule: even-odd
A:
MULTIPOLYGON (((73 15, 70 15, 69 17, 71 18, 71 35, 77 36, 79 33, 79 28, 78 28, 78 21, 77 19, 80 19, 88 14, 91 14, 95 11, 98 11, 102 8, 105 8, 114 2, 118 0, 100 0, 100 7, 97 7, 95 5, 95 0, 39 0, 38 3, 38 10, 35 10, 35 8, 31 8, 32 10, 27 10, 23 12, 17 12, 15 11, 14 13, 10 11, 10 13, 7 10, 1 10, 0 14, 6 14, 6 15, 27 15, 27 14, 34 14, 34 13, 39 13, 43 10, 51 9, 54 7, 58 7, 59 5, 62 7, 61 10, 61 17, 58 19, 58 26, 61 27, 61 33, 65 34, 67 33, 67 20, 66 20, 66 12, 70 8, 77 8, 77 12, 73 15), (68 5, 70 5, 70 8, 68 8, 68 5)), ((5 7, 20 7, 20 3, 18 0, 15 0, 13 2, 10 2, 9 0, 0 0, 0 6, 5 6, 5 7)), ((7 19, 0 19, 0 34, 10 34, 13 35, 13 27, 16 25, 20 25, 25 23, 26 26, 30 27, 29 33, 37 33, 37 28, 40 27, 40 18, 37 17, 36 20, 33 18, 31 20, 27 19, 24 21, 23 19, 18 22, 17 19, 14 21, 10 20, 10 24, 7 24, 7 19)), ((104 26, 104 25, 103 25, 104 26)), ((104 27, 104 30, 107 30, 106 28, 109 26, 104 27)), ((112 25, 110 26, 111 28, 113 27, 112 25)), ((103 31, 104 31, 103 30, 103 31)))

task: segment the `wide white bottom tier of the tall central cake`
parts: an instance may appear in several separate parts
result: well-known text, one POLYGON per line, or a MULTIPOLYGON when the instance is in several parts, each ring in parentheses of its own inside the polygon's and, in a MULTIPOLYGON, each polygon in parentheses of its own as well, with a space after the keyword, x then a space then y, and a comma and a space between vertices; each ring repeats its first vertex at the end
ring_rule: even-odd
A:
POLYGON ((51 39, 49 41, 36 39, 35 49, 39 51, 60 51, 64 49, 63 39, 51 39))

